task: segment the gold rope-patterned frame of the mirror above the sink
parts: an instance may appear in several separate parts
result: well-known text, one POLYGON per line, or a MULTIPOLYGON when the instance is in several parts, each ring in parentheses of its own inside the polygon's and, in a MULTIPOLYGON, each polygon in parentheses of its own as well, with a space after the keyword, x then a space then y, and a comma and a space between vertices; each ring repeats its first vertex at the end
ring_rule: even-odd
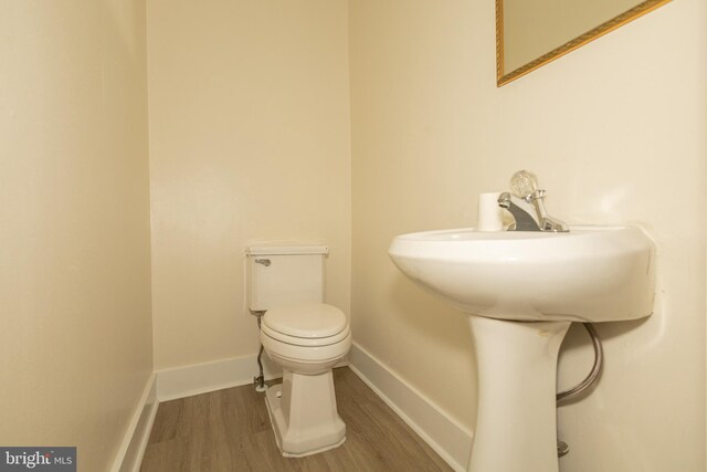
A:
POLYGON ((552 51, 542 54, 540 57, 530 61, 529 63, 506 74, 506 72, 504 71, 504 0, 496 0, 496 84, 497 86, 502 86, 511 81, 515 81, 516 78, 519 78, 528 74, 529 72, 532 72, 536 69, 541 67, 542 65, 552 62, 571 51, 574 51, 576 49, 589 43, 590 41, 593 41, 597 38, 600 38, 608 32, 626 24, 630 21, 633 21, 636 18, 642 17, 669 1, 671 0, 646 0, 644 2, 641 2, 632 9, 621 13, 620 15, 612 18, 611 20, 600 24, 597 28, 593 28, 584 34, 574 38, 573 40, 562 44, 561 46, 556 48, 552 51))

